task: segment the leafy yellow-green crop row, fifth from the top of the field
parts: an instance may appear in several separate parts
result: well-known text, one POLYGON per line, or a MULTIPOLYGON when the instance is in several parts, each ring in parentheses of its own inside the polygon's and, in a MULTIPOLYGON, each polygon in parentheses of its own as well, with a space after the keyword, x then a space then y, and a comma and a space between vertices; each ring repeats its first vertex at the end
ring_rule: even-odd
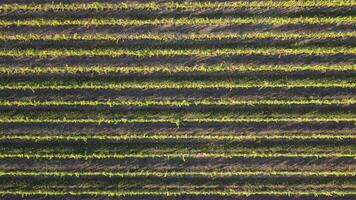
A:
POLYGON ((268 72, 268 71, 353 71, 356 65, 196 65, 196 66, 0 66, 0 74, 77 74, 77 73, 187 73, 187 72, 268 72))

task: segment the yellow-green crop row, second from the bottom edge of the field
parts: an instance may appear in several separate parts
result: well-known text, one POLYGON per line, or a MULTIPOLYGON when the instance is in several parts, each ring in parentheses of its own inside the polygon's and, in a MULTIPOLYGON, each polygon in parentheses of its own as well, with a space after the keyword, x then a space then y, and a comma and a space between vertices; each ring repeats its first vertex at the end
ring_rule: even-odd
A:
POLYGON ((232 176, 356 176, 355 171, 229 171, 229 172, 205 172, 205 171, 140 171, 140 172, 71 172, 71 171, 0 171, 0 176, 107 176, 107 177, 232 177, 232 176))

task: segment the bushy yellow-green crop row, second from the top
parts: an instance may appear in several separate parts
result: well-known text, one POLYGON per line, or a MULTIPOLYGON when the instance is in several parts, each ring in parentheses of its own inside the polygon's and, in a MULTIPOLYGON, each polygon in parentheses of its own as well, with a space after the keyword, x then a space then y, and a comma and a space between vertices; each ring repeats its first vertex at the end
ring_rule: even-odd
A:
POLYGON ((84 18, 84 19, 18 19, 0 20, 0 26, 98 26, 98 25, 229 25, 229 24, 354 24, 356 16, 347 17, 229 17, 229 18, 161 18, 161 19, 131 19, 131 18, 84 18))

